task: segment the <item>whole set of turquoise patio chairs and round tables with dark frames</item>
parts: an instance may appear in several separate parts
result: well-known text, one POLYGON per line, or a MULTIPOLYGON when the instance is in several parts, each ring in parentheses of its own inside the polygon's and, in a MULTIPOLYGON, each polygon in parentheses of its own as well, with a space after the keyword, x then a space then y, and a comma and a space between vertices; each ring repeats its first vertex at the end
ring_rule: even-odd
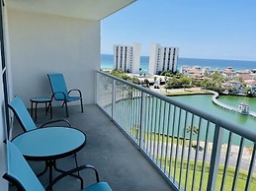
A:
POLYGON ((62 74, 48 75, 52 96, 51 97, 34 97, 31 98, 32 110, 31 115, 27 110, 23 100, 16 96, 8 104, 9 108, 14 112, 17 120, 22 126, 24 133, 16 136, 6 142, 7 147, 7 172, 3 175, 5 179, 12 182, 18 190, 52 190, 60 179, 67 175, 74 176, 80 180, 81 190, 86 191, 111 191, 111 187, 107 182, 99 180, 97 169, 92 165, 78 165, 76 154, 86 145, 86 134, 71 126, 69 121, 65 119, 54 120, 38 127, 33 120, 33 104, 36 104, 36 119, 38 103, 45 103, 45 112, 50 110, 50 118, 52 117, 51 100, 63 101, 62 106, 66 107, 66 115, 68 116, 67 102, 79 100, 81 102, 81 110, 83 112, 82 95, 79 90, 79 96, 68 96, 70 93, 66 91, 64 78, 62 74), (51 123, 64 122, 65 126, 51 125, 51 123), (68 141, 67 141, 68 140, 68 141), (74 155, 76 167, 70 170, 62 170, 56 166, 57 159, 63 159, 74 155), (27 160, 43 160, 45 167, 41 173, 36 175, 27 160), (95 172, 96 183, 83 188, 83 178, 79 171, 90 168, 95 172), (52 170, 60 172, 60 175, 53 178, 52 170), (38 177, 48 170, 48 185, 44 189, 38 177))

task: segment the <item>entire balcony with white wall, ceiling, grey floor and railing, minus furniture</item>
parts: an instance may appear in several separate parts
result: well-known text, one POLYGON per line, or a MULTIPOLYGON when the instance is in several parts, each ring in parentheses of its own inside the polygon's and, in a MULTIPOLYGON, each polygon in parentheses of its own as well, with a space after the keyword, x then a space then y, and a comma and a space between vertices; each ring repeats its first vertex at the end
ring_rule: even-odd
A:
MULTIPOLYGON (((88 6, 91 1, 83 1, 89 3, 85 6, 81 6, 82 1, 72 5, 67 0, 32 2, 10 0, 2 7, 6 25, 3 33, 8 34, 1 39, 7 43, 6 46, 2 43, 2 51, 9 47, 2 52, 3 57, 7 56, 6 63, 2 63, 2 108, 4 101, 13 95, 27 101, 31 96, 49 95, 46 74, 61 72, 70 87, 83 89, 89 104, 85 105, 84 113, 76 106, 70 108, 70 122, 88 136, 86 148, 78 154, 79 163, 94 164, 101 179, 108 181, 114 190, 229 190, 226 185, 230 190, 252 190, 255 187, 256 133, 252 129, 245 130, 100 72, 96 87, 91 83, 95 80, 94 71, 100 68, 100 20, 133 0, 121 4, 117 0, 97 1, 99 4, 93 4, 93 9, 88 6), (92 105, 95 97, 96 104, 92 105), (247 159, 244 159, 246 152, 247 159)), ((0 112, 2 141, 3 127, 9 119, 3 110, 0 112)), ((55 108, 53 114, 61 118, 64 111, 55 108)), ((38 121, 43 123, 47 118, 43 113, 41 116, 38 121)), ((17 124, 14 127, 13 136, 21 131, 17 124)), ((2 157, 3 145, 0 145, 2 157)), ((4 159, 0 160, 3 173, 5 163, 4 159)), ((43 168, 43 162, 31 161, 31 164, 36 172, 43 168)), ((57 164, 62 168, 74 166, 72 157, 60 159, 57 164)), ((47 174, 41 177, 44 185, 46 178, 47 174)), ((0 187, 4 185, 1 179, 0 187)), ((76 185, 70 179, 56 190, 76 185)))

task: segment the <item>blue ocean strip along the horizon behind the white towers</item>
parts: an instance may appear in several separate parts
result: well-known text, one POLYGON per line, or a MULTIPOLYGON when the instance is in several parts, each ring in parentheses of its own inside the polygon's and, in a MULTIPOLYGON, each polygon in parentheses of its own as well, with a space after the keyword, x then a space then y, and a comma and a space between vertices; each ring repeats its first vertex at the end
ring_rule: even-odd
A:
MULTIPOLYGON (((101 55, 101 69, 113 69, 114 63, 113 54, 101 55)), ((140 57, 140 68, 143 71, 148 70, 149 56, 140 57)), ((190 67, 200 66, 211 67, 212 70, 220 69, 224 70, 227 67, 232 67, 235 71, 256 69, 256 61, 244 61, 244 60, 219 60, 219 59, 201 59, 201 58, 179 58, 177 69, 180 71, 183 65, 190 67)))

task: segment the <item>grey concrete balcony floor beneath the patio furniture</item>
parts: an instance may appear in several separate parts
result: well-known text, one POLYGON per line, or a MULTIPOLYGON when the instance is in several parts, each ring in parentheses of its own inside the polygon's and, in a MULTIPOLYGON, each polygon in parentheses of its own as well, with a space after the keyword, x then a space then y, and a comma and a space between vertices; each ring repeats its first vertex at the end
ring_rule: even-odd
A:
MULTIPOLYGON (((100 180, 107 181, 114 191, 170 191, 172 187, 165 178, 144 158, 138 149, 128 140, 124 133, 96 105, 84 105, 84 113, 79 106, 69 106, 69 118, 65 118, 65 110, 53 107, 53 119, 65 118, 73 127, 87 135, 84 149, 77 154, 79 164, 93 164, 99 171, 100 180)), ((37 123, 48 121, 44 109, 39 109, 37 123)), ((22 132, 15 121, 13 136, 22 132)), ((68 141, 68 140, 67 140, 68 141)), ((36 173, 43 170, 43 161, 29 161, 36 173)), ((61 169, 75 167, 74 157, 58 159, 61 169)), ((53 175, 58 173, 54 171, 53 175)), ((93 172, 83 170, 85 184, 95 182, 93 172)), ((43 186, 47 185, 48 173, 40 177, 43 186)), ((53 190, 79 190, 79 181, 66 177, 58 182, 53 190)), ((12 186, 10 190, 15 190, 12 186)))

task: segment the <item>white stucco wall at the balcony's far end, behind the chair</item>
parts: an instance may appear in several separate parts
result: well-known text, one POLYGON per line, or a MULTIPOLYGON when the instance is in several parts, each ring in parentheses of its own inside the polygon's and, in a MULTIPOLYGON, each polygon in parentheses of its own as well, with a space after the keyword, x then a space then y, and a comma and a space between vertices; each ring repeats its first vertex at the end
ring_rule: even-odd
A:
POLYGON ((85 104, 95 102, 99 21, 9 9, 8 25, 14 96, 29 107, 30 97, 51 95, 46 74, 63 73, 68 89, 80 89, 85 104))

